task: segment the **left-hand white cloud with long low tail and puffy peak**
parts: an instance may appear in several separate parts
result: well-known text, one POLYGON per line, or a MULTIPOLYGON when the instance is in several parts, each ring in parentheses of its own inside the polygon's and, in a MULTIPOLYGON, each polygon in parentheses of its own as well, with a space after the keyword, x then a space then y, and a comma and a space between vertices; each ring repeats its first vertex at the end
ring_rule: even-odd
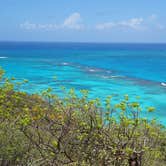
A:
POLYGON ((31 23, 29 21, 25 21, 20 24, 20 28, 26 30, 57 30, 57 29, 74 29, 80 30, 83 29, 83 25, 81 24, 81 16, 79 13, 73 13, 68 18, 66 18, 62 24, 37 24, 31 23))

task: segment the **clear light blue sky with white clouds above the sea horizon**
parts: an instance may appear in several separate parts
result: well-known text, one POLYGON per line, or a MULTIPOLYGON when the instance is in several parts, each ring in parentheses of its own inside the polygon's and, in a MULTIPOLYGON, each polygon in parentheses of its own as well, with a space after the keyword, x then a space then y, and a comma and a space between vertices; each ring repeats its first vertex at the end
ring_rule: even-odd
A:
POLYGON ((0 0, 0 41, 166 43, 166 0, 0 0))

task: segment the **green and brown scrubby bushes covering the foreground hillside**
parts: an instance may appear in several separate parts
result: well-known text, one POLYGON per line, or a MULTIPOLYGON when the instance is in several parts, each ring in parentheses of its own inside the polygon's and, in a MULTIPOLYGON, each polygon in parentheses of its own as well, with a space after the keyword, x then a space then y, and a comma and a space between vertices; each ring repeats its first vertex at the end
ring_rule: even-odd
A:
POLYGON ((166 164, 165 128, 141 118, 127 95, 116 105, 109 96, 105 106, 86 90, 81 97, 71 89, 61 98, 50 88, 29 95, 0 73, 2 166, 166 164))

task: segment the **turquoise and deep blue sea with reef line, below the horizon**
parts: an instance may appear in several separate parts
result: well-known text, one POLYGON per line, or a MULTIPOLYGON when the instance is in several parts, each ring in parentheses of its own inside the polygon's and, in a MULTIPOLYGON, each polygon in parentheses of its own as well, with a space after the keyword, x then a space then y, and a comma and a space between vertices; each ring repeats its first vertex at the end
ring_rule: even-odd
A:
POLYGON ((166 44, 1 42, 0 66, 28 79, 29 93, 51 86, 61 94, 65 86, 87 89, 90 97, 113 95, 114 102, 140 96, 144 107, 156 107, 148 117, 166 124, 166 44))

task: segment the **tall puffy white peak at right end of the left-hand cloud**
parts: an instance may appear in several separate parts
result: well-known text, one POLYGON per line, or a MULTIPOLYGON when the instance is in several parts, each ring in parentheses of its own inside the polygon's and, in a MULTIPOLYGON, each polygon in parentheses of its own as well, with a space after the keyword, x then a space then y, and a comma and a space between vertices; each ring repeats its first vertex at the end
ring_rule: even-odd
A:
POLYGON ((83 25, 80 24, 81 16, 80 13, 73 13, 68 18, 65 19, 63 23, 63 27, 70 28, 70 29, 82 29, 83 25))

